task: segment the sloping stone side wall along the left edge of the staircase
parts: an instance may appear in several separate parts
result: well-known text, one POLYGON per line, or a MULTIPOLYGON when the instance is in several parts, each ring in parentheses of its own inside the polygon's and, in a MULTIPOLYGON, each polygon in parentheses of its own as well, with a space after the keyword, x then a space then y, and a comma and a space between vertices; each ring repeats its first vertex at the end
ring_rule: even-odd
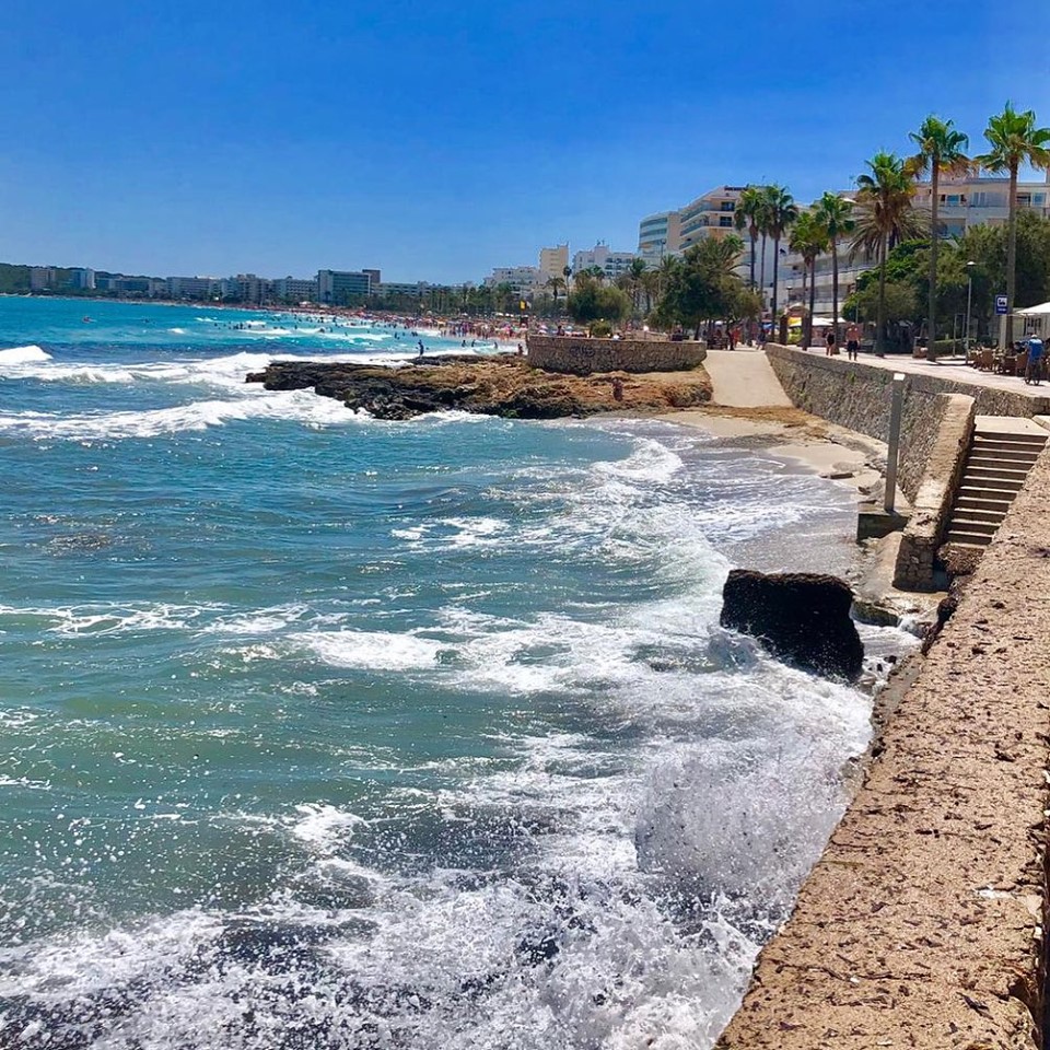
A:
POLYGON ((966 394, 937 394, 941 425, 912 500, 911 517, 897 552, 894 586, 934 591, 933 565, 947 529, 952 501, 966 466, 976 409, 966 394))

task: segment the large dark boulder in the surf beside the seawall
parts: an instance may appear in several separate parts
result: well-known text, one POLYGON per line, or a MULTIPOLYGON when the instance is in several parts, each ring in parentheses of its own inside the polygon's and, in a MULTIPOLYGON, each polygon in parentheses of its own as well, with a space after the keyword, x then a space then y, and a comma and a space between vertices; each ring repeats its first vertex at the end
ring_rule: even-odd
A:
POLYGON ((722 599, 722 626, 755 635, 774 656, 820 675, 860 676, 853 592, 836 576, 734 569, 722 599))

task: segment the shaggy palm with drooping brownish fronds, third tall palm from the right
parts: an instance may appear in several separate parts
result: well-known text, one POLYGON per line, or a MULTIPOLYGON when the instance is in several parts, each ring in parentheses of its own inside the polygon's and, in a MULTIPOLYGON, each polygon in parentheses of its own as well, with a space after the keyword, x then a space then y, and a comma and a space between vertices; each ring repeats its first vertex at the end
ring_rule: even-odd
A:
POLYGON ((852 247, 875 254, 878 259, 878 307, 875 313, 875 353, 886 353, 886 256, 890 242, 919 232, 919 220, 911 200, 915 184, 908 165, 896 153, 878 152, 867 166, 871 175, 859 175, 856 185, 856 228, 852 247))

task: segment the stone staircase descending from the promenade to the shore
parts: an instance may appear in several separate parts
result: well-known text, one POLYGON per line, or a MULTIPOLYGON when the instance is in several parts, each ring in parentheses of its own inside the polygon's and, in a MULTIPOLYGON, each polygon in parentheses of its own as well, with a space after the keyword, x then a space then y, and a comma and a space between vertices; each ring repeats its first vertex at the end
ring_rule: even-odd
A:
POLYGON ((987 547, 1050 432, 1029 419, 978 416, 946 542, 987 547))

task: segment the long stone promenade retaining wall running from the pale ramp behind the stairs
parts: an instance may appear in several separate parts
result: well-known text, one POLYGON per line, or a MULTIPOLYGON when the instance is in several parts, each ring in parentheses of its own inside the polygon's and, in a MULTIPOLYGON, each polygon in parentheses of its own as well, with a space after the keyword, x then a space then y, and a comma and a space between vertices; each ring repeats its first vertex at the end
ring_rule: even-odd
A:
MULTIPOLYGON (((829 422, 886 441, 889 430, 889 387, 892 373, 860 361, 827 358, 768 343, 766 353, 796 408, 829 422)), ((1050 397, 1030 398, 1010 390, 975 387, 937 375, 908 375, 901 419, 901 456, 897 481, 914 500, 941 425, 938 394, 973 397, 977 415, 1032 416, 1050 411, 1050 397)))

